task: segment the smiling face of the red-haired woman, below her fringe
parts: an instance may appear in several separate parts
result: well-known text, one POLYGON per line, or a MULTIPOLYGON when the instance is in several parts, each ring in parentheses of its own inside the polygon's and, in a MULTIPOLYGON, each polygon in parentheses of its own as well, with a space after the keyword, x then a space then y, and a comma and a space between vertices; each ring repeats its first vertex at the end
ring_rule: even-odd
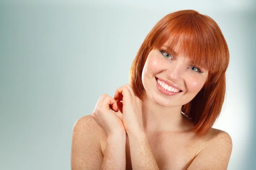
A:
POLYGON ((182 106, 201 90, 208 71, 193 65, 188 57, 171 54, 166 49, 163 45, 148 54, 142 72, 143 86, 154 103, 163 107, 182 106))

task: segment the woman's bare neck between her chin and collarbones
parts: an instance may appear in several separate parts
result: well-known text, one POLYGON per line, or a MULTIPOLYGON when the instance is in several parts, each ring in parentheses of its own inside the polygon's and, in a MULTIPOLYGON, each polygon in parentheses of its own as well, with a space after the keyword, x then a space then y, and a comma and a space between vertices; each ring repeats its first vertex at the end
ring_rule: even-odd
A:
POLYGON ((164 108, 151 99, 142 101, 142 116, 145 132, 191 130, 192 122, 181 113, 181 107, 164 108))

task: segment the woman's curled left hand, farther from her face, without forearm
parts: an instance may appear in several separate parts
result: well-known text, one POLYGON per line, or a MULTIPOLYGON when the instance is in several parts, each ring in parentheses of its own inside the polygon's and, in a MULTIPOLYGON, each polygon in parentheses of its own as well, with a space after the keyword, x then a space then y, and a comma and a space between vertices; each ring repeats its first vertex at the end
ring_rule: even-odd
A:
POLYGON ((105 130, 108 136, 125 133, 122 113, 118 109, 117 102, 107 94, 100 96, 93 110, 92 117, 105 130))

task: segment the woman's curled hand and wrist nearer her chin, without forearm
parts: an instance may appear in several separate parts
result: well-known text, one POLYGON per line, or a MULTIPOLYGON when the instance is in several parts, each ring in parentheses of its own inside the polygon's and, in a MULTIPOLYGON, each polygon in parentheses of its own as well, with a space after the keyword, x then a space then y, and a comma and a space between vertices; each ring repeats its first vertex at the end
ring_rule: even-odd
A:
POLYGON ((122 122, 128 134, 144 132, 142 120, 142 105, 139 97, 135 96, 129 84, 116 89, 113 99, 116 100, 122 113, 122 122))

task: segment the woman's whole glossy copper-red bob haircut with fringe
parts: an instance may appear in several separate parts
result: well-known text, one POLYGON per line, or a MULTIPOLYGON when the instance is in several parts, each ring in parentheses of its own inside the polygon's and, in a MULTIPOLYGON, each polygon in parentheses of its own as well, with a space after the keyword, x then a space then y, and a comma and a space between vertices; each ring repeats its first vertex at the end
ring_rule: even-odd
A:
POLYGON ((225 72, 229 64, 227 42, 217 23, 194 10, 176 11, 163 17, 148 33, 131 65, 130 84, 134 94, 145 97, 142 71, 149 52, 160 49, 168 41, 167 51, 179 43, 177 54, 209 71, 201 91, 181 111, 192 119, 193 131, 206 135, 221 113, 226 93, 225 72))

